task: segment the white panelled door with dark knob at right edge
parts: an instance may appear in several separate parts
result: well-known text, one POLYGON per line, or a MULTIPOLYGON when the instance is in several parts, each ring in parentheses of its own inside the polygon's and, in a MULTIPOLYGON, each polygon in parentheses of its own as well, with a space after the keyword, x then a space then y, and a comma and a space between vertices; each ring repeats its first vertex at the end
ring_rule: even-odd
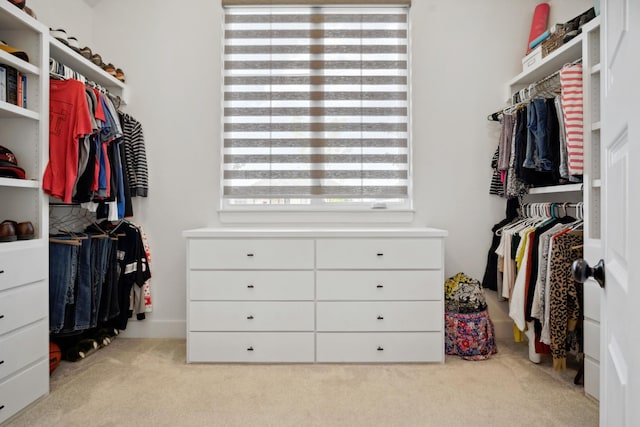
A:
POLYGON ((631 427, 640 425, 640 1, 604 0, 602 19, 606 285, 602 291, 600 425, 631 427))

